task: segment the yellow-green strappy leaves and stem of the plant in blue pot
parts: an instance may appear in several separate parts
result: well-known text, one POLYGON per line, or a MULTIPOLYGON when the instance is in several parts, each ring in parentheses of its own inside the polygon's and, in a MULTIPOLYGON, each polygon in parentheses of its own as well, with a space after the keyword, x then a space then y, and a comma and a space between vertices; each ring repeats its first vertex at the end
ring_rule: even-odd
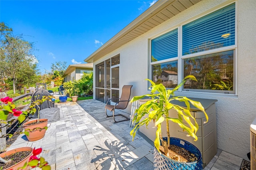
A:
MULTIPOLYGON (((200 111, 204 112, 206 117, 206 122, 208 121, 208 116, 204 111, 204 107, 198 101, 193 101, 188 99, 187 97, 181 96, 174 96, 174 91, 178 90, 184 83, 188 80, 197 81, 193 75, 188 75, 187 77, 182 80, 182 83, 177 85, 174 89, 166 90, 164 85, 156 84, 153 81, 146 79, 151 83, 151 93, 133 97, 130 101, 131 103, 142 99, 144 97, 150 97, 151 100, 146 101, 146 103, 140 105, 140 107, 136 110, 137 115, 134 117, 134 121, 137 123, 136 126, 131 130, 130 135, 134 140, 136 135, 136 131, 142 126, 148 126, 149 122, 152 120, 154 121, 156 130, 156 138, 154 141, 154 146, 160 152, 159 146, 160 141, 162 142, 162 146, 164 147, 164 153, 168 156, 168 147, 170 146, 170 132, 169 132, 169 121, 174 123, 178 123, 178 125, 184 129, 188 133, 188 136, 192 136, 196 141, 198 138, 196 136, 196 132, 198 130, 198 124, 196 123, 195 118, 190 113, 190 104, 194 107, 198 108, 200 111), (180 105, 173 104, 172 101, 180 101, 186 104, 186 108, 181 107, 180 105), (169 111, 174 109, 178 113, 178 118, 172 118, 169 115, 169 111), (144 115, 148 115, 148 117, 142 119, 144 115), (194 124, 192 123, 191 119, 193 120, 194 124), (166 129, 167 129, 167 142, 162 138, 162 130, 161 124, 166 121, 166 129), (185 122, 185 123, 184 123, 185 122)), ((206 123, 205 122, 205 123, 206 123)))

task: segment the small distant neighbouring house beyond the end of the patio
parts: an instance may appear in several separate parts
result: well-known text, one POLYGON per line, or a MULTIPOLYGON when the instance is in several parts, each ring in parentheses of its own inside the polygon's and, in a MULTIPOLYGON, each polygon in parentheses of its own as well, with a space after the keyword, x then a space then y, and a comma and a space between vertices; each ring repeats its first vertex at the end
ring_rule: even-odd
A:
POLYGON ((81 79, 84 72, 93 71, 93 63, 72 64, 69 65, 63 73, 64 82, 81 79))

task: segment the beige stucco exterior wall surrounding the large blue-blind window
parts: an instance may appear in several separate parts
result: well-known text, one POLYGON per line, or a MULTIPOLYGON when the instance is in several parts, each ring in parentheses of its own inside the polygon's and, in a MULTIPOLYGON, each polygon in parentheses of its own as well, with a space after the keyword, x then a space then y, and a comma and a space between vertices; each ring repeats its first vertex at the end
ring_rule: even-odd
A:
MULTIPOLYGON (((116 49, 94 62, 95 65, 120 54, 120 87, 133 85, 132 96, 148 93, 149 50, 148 41, 177 26, 194 20, 234 1, 203 0, 188 10, 160 24, 142 36, 116 49)), ((220 95, 177 92, 176 95, 204 99, 217 99, 217 147, 248 160, 250 152, 250 124, 256 118, 256 1, 238 0, 237 5, 237 94, 220 95)), ((95 79, 94 79, 95 84, 95 79)), ((94 89, 95 90, 95 89, 94 89)), ((120 88, 121 94, 121 88, 120 88)), ((95 96, 94 96, 95 99, 95 96)), ((126 109, 130 112, 130 107, 126 109)))

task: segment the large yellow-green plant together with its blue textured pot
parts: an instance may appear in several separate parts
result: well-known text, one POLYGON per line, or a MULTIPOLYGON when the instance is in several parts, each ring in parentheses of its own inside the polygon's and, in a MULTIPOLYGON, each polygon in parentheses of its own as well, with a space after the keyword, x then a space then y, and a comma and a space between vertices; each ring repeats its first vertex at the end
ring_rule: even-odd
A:
MULTIPOLYGON (((151 93, 133 97, 130 101, 131 103, 142 99, 144 97, 150 97, 151 99, 146 101, 146 103, 140 105, 140 107, 136 110, 137 115, 134 116, 134 121, 137 123, 136 126, 131 130, 130 134, 132 135, 133 139, 136 135, 136 131, 142 126, 148 126, 148 123, 153 121, 156 130, 156 138, 154 140, 154 167, 155 169, 202 169, 202 156, 198 148, 196 148, 191 143, 181 140, 178 138, 171 138, 169 133, 169 121, 174 123, 178 123, 178 125, 188 133, 187 136, 192 136, 194 140, 197 140, 196 132, 198 130, 198 124, 196 123, 195 118, 190 114, 190 104, 194 107, 202 111, 206 117, 206 122, 208 121, 208 116, 204 111, 204 107, 201 105, 200 102, 193 101, 188 99, 187 97, 181 96, 174 96, 174 91, 178 90, 186 81, 197 81, 193 75, 189 75, 182 80, 182 83, 177 85, 174 89, 166 90, 164 85, 156 84, 153 81, 146 79, 151 83, 151 93), (180 105, 173 104, 172 101, 180 101, 186 104, 186 108, 181 107, 180 105), (170 117, 169 110, 174 109, 177 111, 178 118, 170 117), (148 117, 143 118, 145 115, 148 117), (192 121, 191 121, 192 120, 192 121), (167 130, 167 138, 162 137, 162 130, 161 125, 162 123, 166 123, 166 130, 167 130), (177 160, 172 160, 173 158, 169 158, 169 149, 170 143, 174 144, 175 147, 179 146, 194 154, 196 157, 195 160, 189 163, 179 162, 177 160), (160 151, 160 148, 161 151, 160 151), (164 161, 164 162, 158 162, 164 161)), ((178 147, 176 147, 178 148, 178 147)), ((183 152, 183 150, 182 150, 183 152)))

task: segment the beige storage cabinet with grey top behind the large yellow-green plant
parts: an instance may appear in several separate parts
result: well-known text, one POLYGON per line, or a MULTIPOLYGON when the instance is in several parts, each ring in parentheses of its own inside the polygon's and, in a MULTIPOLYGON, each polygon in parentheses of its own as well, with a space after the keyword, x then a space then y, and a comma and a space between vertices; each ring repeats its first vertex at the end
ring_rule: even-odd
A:
MULTIPOLYGON (((217 133, 216 133, 216 111, 215 111, 215 103, 217 100, 214 99, 198 99, 198 98, 190 98, 194 101, 199 101, 206 111, 209 119, 208 122, 203 124, 204 121, 206 121, 206 118, 204 116, 204 113, 197 108, 194 108, 192 105, 190 105, 190 113, 194 116, 196 119, 196 122, 198 123, 199 129, 196 132, 196 136, 198 137, 197 141, 194 141, 194 138, 191 136, 186 136, 187 132, 183 132, 183 129, 177 124, 173 123, 172 121, 169 121, 169 129, 170 129, 170 136, 181 138, 183 140, 186 140, 192 144, 194 144, 201 152, 202 159, 203 159, 203 167, 205 167, 210 160, 215 156, 217 153, 217 133)), ((140 105, 146 102, 150 99, 141 99, 140 105)), ((173 104, 180 105, 182 107, 186 107, 184 102, 174 101, 173 104)), ((177 118, 178 113, 171 109, 169 111, 169 116, 172 118, 177 118)), ((194 120, 191 120, 192 122, 194 120)), ((166 133, 166 122, 162 123, 162 136, 167 137, 166 133)), ((143 125, 140 127, 139 132, 144 134, 148 139, 150 139, 152 142, 154 142, 156 138, 156 127, 154 127, 154 123, 151 122, 148 125, 148 129, 146 128, 146 125, 143 125)))

